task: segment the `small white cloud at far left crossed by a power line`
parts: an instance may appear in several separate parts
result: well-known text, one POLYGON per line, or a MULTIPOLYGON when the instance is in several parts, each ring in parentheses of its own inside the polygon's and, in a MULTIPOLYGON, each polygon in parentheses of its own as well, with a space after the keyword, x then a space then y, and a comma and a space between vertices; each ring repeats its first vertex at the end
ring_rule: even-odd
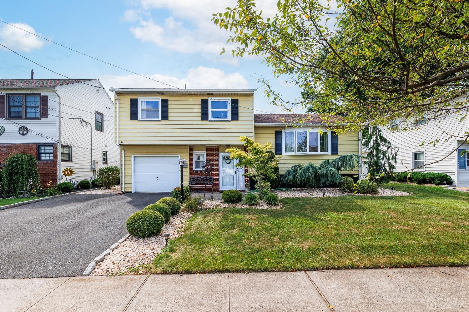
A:
MULTIPOLYGON (((36 34, 36 30, 28 24, 21 22, 11 24, 36 34)), ((31 52, 31 50, 40 49, 44 46, 44 40, 21 29, 5 24, 0 28, 0 42, 13 50, 24 52, 31 52)))

